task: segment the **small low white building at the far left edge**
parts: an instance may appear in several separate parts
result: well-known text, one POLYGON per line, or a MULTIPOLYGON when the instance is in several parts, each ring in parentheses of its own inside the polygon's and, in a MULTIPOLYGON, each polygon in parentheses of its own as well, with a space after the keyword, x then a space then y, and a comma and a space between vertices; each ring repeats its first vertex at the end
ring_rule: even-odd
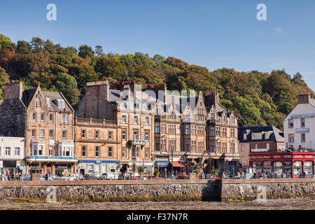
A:
POLYGON ((0 137, 0 174, 25 173, 25 139, 0 137), (2 165, 2 166, 1 166, 2 165))

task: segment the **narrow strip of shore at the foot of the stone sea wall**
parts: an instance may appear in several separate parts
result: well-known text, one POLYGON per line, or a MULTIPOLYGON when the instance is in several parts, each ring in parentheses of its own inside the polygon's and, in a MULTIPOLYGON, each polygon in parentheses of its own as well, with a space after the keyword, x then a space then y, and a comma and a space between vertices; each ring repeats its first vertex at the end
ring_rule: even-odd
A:
POLYGON ((0 210, 315 210, 315 200, 266 202, 62 202, 55 204, 0 202, 0 210))

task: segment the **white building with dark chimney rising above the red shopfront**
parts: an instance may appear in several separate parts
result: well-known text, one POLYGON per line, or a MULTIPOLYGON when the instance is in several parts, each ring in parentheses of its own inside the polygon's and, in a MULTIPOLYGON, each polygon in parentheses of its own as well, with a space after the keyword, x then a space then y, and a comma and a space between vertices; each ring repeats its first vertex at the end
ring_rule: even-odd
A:
POLYGON ((309 93, 298 96, 297 105, 283 122, 286 148, 315 149, 315 99, 309 93))

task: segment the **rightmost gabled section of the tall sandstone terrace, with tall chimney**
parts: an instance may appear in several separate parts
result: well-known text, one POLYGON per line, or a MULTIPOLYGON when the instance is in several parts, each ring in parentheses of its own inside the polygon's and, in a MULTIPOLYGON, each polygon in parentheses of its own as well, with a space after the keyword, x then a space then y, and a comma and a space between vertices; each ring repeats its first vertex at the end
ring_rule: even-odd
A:
POLYGON ((207 171, 238 170, 237 118, 219 102, 217 90, 207 90, 207 171))

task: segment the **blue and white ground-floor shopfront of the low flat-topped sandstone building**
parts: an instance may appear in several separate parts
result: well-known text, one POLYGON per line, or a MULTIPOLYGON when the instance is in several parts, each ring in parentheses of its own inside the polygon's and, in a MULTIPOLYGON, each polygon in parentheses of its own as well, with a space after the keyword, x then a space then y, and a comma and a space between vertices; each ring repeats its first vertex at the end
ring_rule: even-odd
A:
POLYGON ((117 160, 78 160, 76 172, 80 174, 118 173, 117 160))

